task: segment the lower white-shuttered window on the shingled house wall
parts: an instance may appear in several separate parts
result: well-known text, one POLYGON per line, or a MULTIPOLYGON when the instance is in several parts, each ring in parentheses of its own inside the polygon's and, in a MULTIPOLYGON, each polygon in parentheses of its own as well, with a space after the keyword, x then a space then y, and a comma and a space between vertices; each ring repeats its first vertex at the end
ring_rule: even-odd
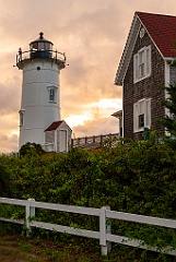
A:
POLYGON ((133 131, 143 131, 151 127, 151 98, 144 98, 133 104, 133 131))

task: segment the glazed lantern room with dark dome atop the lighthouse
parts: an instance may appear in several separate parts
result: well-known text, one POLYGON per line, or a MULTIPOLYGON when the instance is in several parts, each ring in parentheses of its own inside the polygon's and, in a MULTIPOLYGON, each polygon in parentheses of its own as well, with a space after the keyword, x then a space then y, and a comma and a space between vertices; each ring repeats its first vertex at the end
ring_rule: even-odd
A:
POLYGON ((39 33, 39 38, 30 43, 31 58, 50 58, 54 44, 44 38, 44 33, 39 33))

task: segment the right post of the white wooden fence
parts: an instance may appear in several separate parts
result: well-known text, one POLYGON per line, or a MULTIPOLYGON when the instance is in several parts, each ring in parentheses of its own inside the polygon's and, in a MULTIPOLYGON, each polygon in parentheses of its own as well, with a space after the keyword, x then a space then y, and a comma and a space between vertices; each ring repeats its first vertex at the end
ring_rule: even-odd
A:
POLYGON ((107 255, 112 250, 112 242, 106 241, 106 234, 112 233, 112 226, 106 218, 106 211, 110 210, 109 206, 103 206, 101 209, 99 216, 99 245, 102 246, 102 255, 107 255))

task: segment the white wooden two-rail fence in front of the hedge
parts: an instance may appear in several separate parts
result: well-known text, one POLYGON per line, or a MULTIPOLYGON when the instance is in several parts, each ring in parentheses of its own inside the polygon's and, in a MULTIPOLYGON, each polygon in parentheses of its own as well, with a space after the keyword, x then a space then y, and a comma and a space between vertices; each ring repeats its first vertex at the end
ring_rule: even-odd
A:
MULTIPOLYGON (((117 242, 121 245, 127 245, 131 247, 138 247, 142 249, 151 250, 151 251, 161 252, 161 250, 159 250, 157 248, 149 248, 148 246, 143 245, 141 240, 138 240, 138 239, 131 240, 124 236, 112 235, 110 225, 108 225, 107 223, 107 219, 109 218, 141 223, 141 224, 153 225, 153 226, 167 227, 167 228, 176 228, 176 221, 173 221, 173 219, 164 219, 164 218, 157 218, 157 217, 151 217, 151 216, 110 211, 108 206, 103 206, 102 209, 92 209, 92 207, 83 207, 83 206, 36 202, 34 199, 16 200, 16 199, 7 199, 7 198, 0 198, 0 203, 19 205, 19 206, 25 207, 24 219, 0 217, 0 221, 16 223, 21 225, 25 224, 27 228, 27 234, 32 230, 32 227, 38 227, 38 228, 55 230, 59 233, 68 233, 68 234, 81 236, 81 237, 99 239, 99 245, 102 247, 102 254, 104 255, 106 255, 107 252, 110 252, 112 242, 117 242), (74 214, 97 216, 99 217, 99 231, 37 222, 35 221, 36 207, 52 210, 52 211, 70 212, 74 214)), ((172 250, 169 247, 162 250, 162 252, 176 255, 176 250, 172 250)))

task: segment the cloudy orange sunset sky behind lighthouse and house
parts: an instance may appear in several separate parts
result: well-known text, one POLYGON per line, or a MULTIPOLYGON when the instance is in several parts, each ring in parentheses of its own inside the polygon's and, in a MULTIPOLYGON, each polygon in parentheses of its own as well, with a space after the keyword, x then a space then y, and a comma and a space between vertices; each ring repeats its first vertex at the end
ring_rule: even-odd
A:
POLYGON ((39 32, 66 52, 60 72, 61 119, 74 138, 118 132, 122 108, 114 85, 136 11, 176 15, 174 0, 0 0, 0 153, 19 150, 22 71, 19 47, 39 32))

